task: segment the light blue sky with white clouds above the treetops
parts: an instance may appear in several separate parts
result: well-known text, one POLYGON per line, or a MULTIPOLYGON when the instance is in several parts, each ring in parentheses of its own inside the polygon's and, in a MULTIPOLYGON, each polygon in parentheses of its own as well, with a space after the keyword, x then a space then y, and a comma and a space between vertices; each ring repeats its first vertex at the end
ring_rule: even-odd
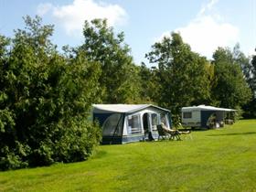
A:
POLYGON ((115 33, 124 32, 136 64, 148 63, 145 53, 171 32, 208 59, 237 43, 246 56, 256 53, 256 0, 0 0, 0 34, 13 37, 27 15, 55 26, 59 49, 83 43, 84 20, 107 18, 115 33))

